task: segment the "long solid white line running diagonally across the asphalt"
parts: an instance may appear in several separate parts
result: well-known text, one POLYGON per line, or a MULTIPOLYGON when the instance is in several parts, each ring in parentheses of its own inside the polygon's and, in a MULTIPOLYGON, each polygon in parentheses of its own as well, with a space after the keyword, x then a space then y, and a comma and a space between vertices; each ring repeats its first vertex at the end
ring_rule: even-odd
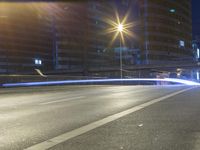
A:
POLYGON ((186 92, 188 90, 191 90, 193 88, 196 88, 196 87, 190 87, 190 88, 187 88, 187 89, 183 89, 183 90, 168 94, 166 96, 151 100, 151 101, 146 102, 144 104, 132 107, 132 108, 130 108, 128 110, 125 110, 123 112, 108 116, 108 117, 106 117, 104 119, 101 119, 99 121, 95 121, 93 123, 90 123, 88 125, 80 127, 78 129, 72 130, 70 132, 61 134, 61 135, 59 135, 57 137, 54 137, 54 138, 49 139, 47 141, 44 141, 42 143, 39 143, 39 144, 33 145, 31 147, 28 147, 25 150, 46 150, 46 149, 49 149, 49 148, 51 148, 51 147, 53 147, 55 145, 58 145, 60 143, 65 142, 65 141, 67 141, 67 140, 69 140, 71 138, 77 137, 77 136, 79 136, 81 134, 84 134, 84 133, 86 133, 88 131, 91 131, 91 130, 96 129, 96 128, 100 127, 100 126, 103 126, 103 125, 105 125, 105 124, 107 124, 109 122, 117 120, 117 119, 119 119, 121 117, 124 117, 124 116, 129 115, 129 114, 131 114, 133 112, 141 110, 141 109, 143 109, 143 108, 145 108, 147 106, 150 106, 150 105, 155 104, 157 102, 163 101, 163 100, 165 100, 167 98, 170 98, 170 97, 173 97, 175 95, 181 94, 181 93, 186 92))

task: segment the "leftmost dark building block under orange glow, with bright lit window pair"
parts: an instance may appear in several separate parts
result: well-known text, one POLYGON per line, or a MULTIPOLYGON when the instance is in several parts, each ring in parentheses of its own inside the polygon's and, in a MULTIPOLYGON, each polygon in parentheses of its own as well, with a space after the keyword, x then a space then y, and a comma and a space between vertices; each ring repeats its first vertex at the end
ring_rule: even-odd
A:
POLYGON ((0 3, 0 72, 52 69, 52 30, 44 4, 0 3))

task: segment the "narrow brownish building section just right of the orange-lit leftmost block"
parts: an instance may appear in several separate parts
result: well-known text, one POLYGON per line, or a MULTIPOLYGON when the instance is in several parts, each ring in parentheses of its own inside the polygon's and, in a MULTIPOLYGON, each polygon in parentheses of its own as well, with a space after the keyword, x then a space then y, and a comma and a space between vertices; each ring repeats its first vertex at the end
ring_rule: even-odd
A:
POLYGON ((54 24, 54 67, 84 70, 86 64, 87 17, 85 3, 53 3, 49 10, 54 24))

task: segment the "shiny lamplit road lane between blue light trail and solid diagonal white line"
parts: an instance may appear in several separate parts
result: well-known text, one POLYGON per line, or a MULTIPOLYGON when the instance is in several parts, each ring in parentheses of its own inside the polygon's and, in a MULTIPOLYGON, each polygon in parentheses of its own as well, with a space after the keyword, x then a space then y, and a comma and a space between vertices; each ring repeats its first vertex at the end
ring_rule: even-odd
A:
POLYGON ((185 88, 54 86, 0 89, 0 149, 24 149, 185 88))

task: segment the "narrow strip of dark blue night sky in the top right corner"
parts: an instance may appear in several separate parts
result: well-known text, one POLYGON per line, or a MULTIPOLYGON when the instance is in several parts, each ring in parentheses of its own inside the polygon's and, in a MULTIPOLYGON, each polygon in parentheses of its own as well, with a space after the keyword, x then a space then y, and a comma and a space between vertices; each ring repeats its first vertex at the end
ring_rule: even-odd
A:
POLYGON ((192 0, 193 37, 200 36, 200 0, 192 0))

